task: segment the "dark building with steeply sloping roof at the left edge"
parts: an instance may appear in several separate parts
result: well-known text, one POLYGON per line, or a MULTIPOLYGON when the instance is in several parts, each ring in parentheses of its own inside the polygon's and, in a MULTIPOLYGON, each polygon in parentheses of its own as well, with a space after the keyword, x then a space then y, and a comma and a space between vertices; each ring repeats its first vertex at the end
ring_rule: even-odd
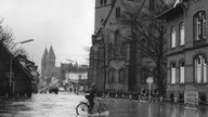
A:
POLYGON ((0 41, 0 96, 31 96, 31 74, 0 41))

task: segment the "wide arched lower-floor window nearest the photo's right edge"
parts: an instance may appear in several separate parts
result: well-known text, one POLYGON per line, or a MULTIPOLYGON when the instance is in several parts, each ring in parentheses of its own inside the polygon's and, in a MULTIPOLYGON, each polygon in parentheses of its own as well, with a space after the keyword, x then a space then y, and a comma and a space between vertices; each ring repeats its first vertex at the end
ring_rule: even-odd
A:
POLYGON ((194 60, 194 73, 195 73, 195 82, 207 82, 207 62, 206 57, 203 55, 198 55, 194 60))

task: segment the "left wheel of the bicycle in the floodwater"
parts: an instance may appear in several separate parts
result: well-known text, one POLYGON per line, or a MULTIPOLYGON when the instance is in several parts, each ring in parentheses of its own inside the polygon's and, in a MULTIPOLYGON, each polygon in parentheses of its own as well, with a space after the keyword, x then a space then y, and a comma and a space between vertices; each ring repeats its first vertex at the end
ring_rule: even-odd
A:
POLYGON ((88 115, 88 110, 89 110, 88 104, 86 103, 80 103, 76 107, 77 115, 88 115))

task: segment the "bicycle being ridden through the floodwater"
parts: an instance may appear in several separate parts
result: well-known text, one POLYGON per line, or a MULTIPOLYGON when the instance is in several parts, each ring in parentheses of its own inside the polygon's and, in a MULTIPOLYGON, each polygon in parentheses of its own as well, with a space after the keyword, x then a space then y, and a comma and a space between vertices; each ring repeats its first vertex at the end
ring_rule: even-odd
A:
MULTIPOLYGON (((88 101, 80 101, 80 103, 76 107, 76 113, 77 115, 88 115, 89 108, 90 108, 90 105, 88 101)), ((102 99, 95 99, 92 110, 93 110, 93 114, 95 114, 96 112, 101 114, 107 110, 107 106, 102 99)))

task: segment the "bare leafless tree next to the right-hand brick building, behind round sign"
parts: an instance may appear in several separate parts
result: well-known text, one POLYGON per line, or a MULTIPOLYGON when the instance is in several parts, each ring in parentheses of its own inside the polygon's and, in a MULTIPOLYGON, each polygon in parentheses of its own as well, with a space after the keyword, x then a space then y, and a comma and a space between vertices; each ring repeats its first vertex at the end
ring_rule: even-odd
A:
POLYGON ((167 83, 167 34, 165 21, 160 21, 155 14, 143 14, 138 25, 142 39, 140 50, 144 56, 153 61, 154 69, 151 72, 155 78, 160 95, 165 94, 167 83), (145 22, 144 22, 145 21, 145 22))

